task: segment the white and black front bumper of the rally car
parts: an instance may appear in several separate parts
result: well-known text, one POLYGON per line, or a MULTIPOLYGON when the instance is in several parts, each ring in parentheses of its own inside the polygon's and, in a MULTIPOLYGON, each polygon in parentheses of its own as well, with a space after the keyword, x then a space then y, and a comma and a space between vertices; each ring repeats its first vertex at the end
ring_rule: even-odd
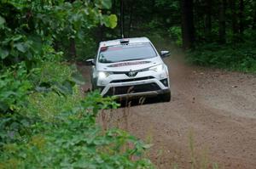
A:
POLYGON ((141 97, 155 96, 161 93, 170 93, 168 71, 155 72, 147 70, 138 72, 136 76, 129 77, 121 73, 113 73, 104 79, 96 81, 102 96, 141 97))

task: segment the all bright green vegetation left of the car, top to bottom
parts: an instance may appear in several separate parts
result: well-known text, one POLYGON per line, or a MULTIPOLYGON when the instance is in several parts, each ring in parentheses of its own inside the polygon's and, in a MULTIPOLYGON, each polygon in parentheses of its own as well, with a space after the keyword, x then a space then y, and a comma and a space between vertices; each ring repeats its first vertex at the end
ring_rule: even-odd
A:
POLYGON ((74 40, 82 49, 96 25, 117 24, 102 14, 110 8, 110 0, 1 0, 0 168, 154 167, 143 157, 148 144, 96 124, 101 110, 119 104, 84 95, 83 77, 67 62, 74 40))

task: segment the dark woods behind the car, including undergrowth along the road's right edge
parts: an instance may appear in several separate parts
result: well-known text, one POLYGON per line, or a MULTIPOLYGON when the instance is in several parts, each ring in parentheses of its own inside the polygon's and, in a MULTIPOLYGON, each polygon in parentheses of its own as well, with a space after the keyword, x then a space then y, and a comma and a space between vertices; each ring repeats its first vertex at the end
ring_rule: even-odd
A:
MULTIPOLYGON (((96 51, 97 42, 120 38, 123 27, 125 37, 151 39, 158 35, 189 49, 187 59, 196 65, 256 69, 253 0, 112 0, 112 4, 111 13, 118 16, 118 25, 114 29, 99 25, 91 30, 94 41, 89 51, 96 51)), ((163 41, 153 39, 154 43, 163 41)), ((78 57, 85 57, 84 52, 78 53, 78 57)))

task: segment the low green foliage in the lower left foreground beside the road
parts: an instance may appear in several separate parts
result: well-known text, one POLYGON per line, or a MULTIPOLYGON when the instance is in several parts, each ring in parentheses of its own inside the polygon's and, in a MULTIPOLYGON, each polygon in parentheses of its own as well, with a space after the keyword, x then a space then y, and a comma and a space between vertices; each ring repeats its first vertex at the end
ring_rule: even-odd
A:
POLYGON ((117 107, 113 99, 103 99, 99 93, 89 93, 82 99, 79 92, 67 97, 35 93, 30 98, 24 114, 37 119, 30 125, 32 135, 23 136, 21 142, 3 145, 2 168, 153 167, 150 161, 141 158, 148 145, 127 132, 102 132, 96 125, 99 110, 110 105, 117 107), (131 156, 137 160, 131 161, 131 156))

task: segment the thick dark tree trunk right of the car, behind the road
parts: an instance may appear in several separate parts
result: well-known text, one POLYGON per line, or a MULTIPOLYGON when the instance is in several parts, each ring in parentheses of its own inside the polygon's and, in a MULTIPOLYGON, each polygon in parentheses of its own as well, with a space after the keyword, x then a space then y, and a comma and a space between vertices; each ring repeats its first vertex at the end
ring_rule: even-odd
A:
POLYGON ((181 9, 183 48, 192 48, 195 42, 193 0, 182 0, 181 9))

